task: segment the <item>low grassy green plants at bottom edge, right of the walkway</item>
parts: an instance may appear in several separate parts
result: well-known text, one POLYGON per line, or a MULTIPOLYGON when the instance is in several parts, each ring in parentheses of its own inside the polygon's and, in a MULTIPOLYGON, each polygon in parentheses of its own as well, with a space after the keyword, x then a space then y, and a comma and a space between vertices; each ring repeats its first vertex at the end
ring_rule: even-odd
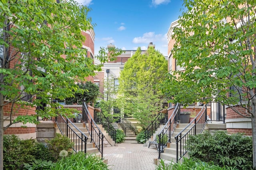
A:
POLYGON ((192 158, 183 158, 183 162, 164 164, 164 160, 160 160, 160 164, 156 166, 155 170, 237 170, 236 168, 228 166, 214 165, 212 162, 206 163, 200 160, 193 160, 192 158))

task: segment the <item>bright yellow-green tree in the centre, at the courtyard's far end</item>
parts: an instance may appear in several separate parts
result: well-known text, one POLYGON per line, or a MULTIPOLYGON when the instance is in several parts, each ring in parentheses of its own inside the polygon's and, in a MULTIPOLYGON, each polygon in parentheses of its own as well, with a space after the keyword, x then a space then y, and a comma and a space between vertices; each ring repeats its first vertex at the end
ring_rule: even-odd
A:
POLYGON ((138 119, 147 126, 166 102, 160 83, 166 79, 167 61, 150 47, 141 54, 140 47, 124 64, 120 73, 119 96, 124 113, 138 119))

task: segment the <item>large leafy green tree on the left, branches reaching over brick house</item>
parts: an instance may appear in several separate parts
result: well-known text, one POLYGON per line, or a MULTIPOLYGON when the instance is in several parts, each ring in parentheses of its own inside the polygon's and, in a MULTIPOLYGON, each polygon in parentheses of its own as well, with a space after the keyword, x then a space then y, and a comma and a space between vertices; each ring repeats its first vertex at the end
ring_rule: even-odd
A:
MULTIPOLYGON (((38 123, 37 116, 54 116, 52 99, 74 96, 76 82, 101 69, 102 64, 95 66, 82 48, 86 38, 81 30, 94 26, 89 11, 74 0, 0 1, 0 169, 5 129, 18 122, 38 123), (42 103, 49 106, 47 112, 15 117, 18 108, 42 103), (6 118, 7 105, 11 108, 6 118), (4 128, 6 119, 10 121, 4 128)), ((111 51, 110 59, 116 56, 116 49, 111 51)), ((99 54, 102 63, 108 61, 106 49, 99 54)))

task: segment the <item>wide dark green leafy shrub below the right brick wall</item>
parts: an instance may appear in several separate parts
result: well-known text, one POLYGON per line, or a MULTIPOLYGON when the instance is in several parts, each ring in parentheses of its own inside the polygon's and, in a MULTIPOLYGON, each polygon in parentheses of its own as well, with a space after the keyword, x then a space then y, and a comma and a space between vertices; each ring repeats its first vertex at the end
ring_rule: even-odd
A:
POLYGON ((224 131, 190 136, 186 143, 190 156, 214 165, 227 165, 239 170, 253 170, 252 137, 224 131))

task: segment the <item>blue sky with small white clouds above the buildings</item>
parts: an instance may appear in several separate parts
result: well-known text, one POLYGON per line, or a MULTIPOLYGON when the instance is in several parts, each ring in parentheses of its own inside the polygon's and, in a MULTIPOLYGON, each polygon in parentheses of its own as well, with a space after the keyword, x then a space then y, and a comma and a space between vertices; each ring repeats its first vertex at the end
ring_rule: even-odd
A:
POLYGON ((123 50, 146 49, 150 42, 168 54, 167 31, 182 14, 183 0, 76 0, 91 8, 95 51, 112 43, 123 50))

